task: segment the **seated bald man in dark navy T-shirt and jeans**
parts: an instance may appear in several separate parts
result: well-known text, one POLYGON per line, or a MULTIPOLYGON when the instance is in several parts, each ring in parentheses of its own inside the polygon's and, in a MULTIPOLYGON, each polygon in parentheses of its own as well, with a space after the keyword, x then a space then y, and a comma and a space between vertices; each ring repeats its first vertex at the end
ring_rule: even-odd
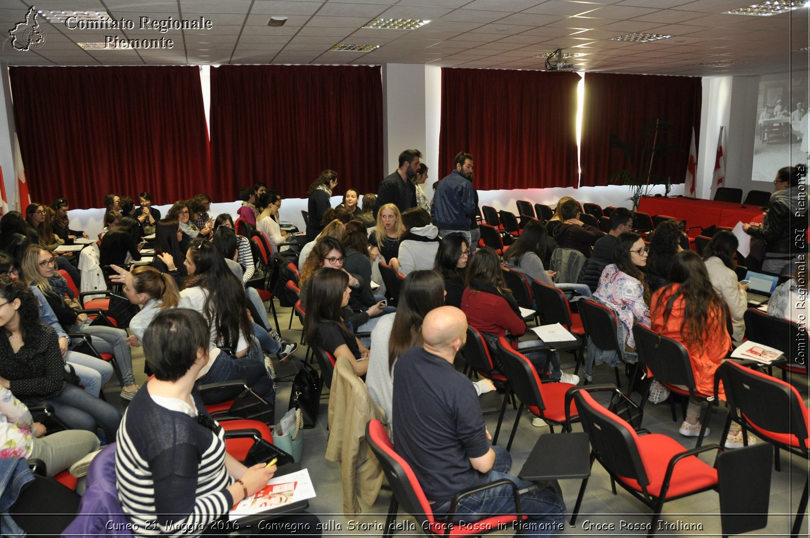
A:
MULTIPOLYGON (((453 361, 467 339, 467 318, 454 306, 431 310, 422 323, 423 348, 399 357, 394 376, 394 446, 416 473, 431 503, 442 517, 461 489, 506 478, 519 489, 531 483, 509 476, 512 459, 501 446, 489 446, 478 397, 470 380, 454 369, 453 361)), ((512 490, 487 489, 458 506, 458 519, 475 521, 514 511, 512 490), (472 516, 472 517, 470 517, 472 516)), ((565 502, 552 489, 521 496, 529 516, 526 536, 555 535, 565 523, 565 502)))

